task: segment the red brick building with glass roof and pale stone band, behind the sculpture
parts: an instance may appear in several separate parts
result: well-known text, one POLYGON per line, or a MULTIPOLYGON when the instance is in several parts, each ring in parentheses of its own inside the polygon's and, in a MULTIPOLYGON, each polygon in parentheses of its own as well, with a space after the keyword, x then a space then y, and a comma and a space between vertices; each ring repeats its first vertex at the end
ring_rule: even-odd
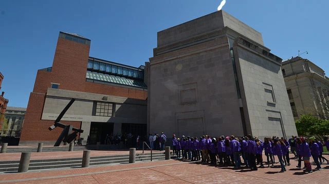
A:
POLYGON ((52 67, 38 70, 20 145, 53 145, 63 129, 49 131, 71 98, 61 122, 84 130, 92 144, 106 134, 146 134, 147 83, 144 66, 121 65, 89 56, 90 39, 60 32, 52 67))

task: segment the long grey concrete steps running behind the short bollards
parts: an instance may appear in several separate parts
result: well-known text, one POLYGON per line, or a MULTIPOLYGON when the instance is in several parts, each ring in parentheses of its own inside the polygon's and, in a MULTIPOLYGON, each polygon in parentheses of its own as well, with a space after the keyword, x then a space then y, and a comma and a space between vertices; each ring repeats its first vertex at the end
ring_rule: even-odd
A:
MULTIPOLYGON (((165 159, 164 152, 153 153, 153 160, 165 159)), ((136 154, 136 161, 150 161, 151 154, 136 154)), ((0 172, 17 171, 19 160, 0 161, 0 172)), ((104 165, 110 163, 129 162, 129 155, 109 155, 90 157, 89 165, 104 165)), ((29 170, 81 167, 82 158, 39 159, 30 160, 29 170)))

